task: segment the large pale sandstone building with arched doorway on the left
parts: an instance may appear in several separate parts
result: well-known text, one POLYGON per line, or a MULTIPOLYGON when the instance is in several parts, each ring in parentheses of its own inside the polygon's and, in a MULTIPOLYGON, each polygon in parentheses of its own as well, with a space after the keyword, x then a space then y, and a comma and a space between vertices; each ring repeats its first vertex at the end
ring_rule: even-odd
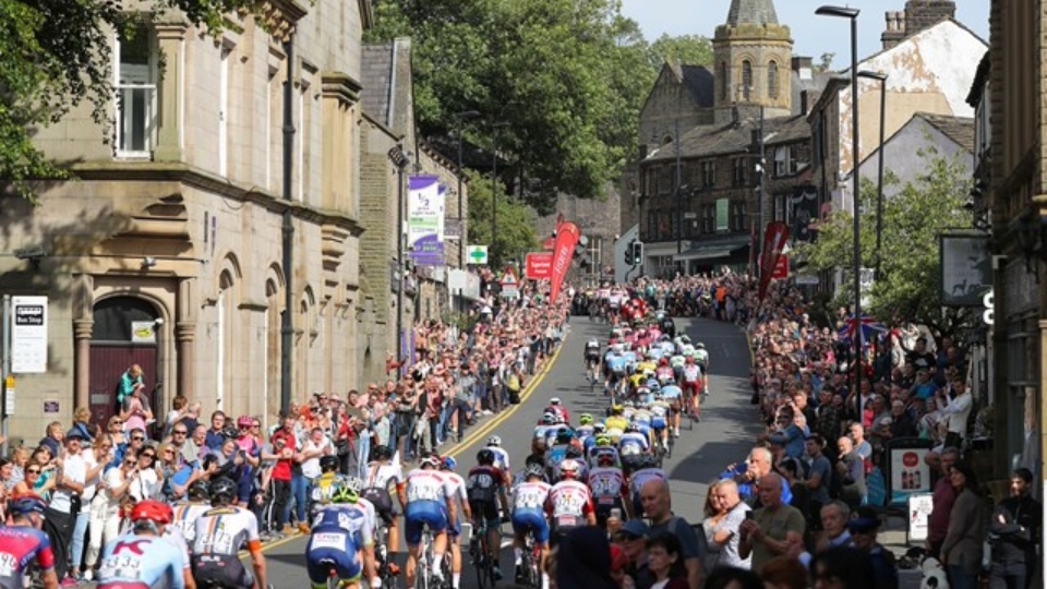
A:
POLYGON ((79 180, 39 184, 38 207, 0 196, 0 243, 22 254, 0 257, 0 288, 48 297, 46 372, 17 374, 15 437, 41 435, 36 411, 68 423, 74 407, 89 407, 104 418, 132 363, 157 416, 182 394, 205 414, 272 422, 281 360, 293 398, 359 384, 359 95, 371 7, 265 7, 265 29, 230 15, 213 38, 168 11, 113 35, 112 136, 86 107, 71 112, 35 140, 75 161, 79 180), (296 133, 285 153, 289 67, 296 133))

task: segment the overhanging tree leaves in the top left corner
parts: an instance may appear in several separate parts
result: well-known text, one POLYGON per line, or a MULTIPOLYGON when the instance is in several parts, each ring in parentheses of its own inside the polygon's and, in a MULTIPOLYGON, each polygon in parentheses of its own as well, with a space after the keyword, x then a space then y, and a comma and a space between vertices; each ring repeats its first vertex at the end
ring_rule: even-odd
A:
MULTIPOLYGON (((153 0, 141 10, 181 11, 210 31, 222 15, 252 0, 153 0)), ((0 0, 0 178, 33 200, 31 181, 64 179, 61 163, 47 159, 33 136, 87 100, 99 123, 112 100, 109 35, 134 16, 117 0, 0 0)))

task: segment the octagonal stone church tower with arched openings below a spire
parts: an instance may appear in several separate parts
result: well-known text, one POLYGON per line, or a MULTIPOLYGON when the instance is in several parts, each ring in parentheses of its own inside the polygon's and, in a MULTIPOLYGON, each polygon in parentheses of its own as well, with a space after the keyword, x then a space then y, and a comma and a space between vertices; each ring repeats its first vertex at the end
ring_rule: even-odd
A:
POLYGON ((731 0, 727 21, 712 40, 717 124, 743 117, 787 117, 792 111, 793 39, 778 22, 773 0, 731 0))

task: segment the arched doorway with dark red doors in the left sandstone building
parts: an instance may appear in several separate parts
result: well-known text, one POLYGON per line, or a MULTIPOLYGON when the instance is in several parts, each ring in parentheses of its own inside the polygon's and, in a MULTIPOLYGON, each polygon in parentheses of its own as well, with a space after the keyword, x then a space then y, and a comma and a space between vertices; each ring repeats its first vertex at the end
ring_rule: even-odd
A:
POLYGON ((157 407, 158 347, 156 306, 136 297, 112 297, 94 308, 91 336, 91 414, 97 423, 106 423, 116 411, 116 389, 120 376, 131 366, 142 366, 145 389, 153 412, 163 419, 157 407))

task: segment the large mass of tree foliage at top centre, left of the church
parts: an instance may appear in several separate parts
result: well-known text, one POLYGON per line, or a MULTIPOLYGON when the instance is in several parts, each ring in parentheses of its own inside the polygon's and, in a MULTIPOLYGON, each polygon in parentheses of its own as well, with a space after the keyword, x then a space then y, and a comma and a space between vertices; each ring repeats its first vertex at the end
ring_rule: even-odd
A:
POLYGON ((558 193, 601 194, 634 154, 636 122, 662 62, 698 59, 697 37, 654 49, 615 0, 384 0, 366 40, 412 39, 417 122, 453 136, 455 113, 477 110, 464 135, 498 152, 549 211, 558 193), (653 51, 653 52, 652 52, 653 51))

